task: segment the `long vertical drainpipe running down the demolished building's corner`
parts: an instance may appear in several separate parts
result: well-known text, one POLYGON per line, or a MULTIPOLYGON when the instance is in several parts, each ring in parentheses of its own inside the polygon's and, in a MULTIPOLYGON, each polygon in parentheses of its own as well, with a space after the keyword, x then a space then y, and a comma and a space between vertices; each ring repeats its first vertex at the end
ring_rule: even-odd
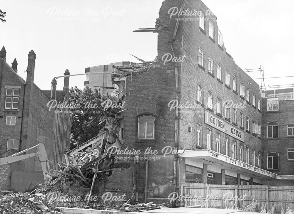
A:
MULTIPOLYGON (((185 1, 186 0, 183 0, 183 3, 182 3, 182 6, 181 6, 181 10, 183 10, 184 8, 184 5, 185 5, 185 1)), ((171 38, 171 41, 169 41, 169 44, 171 46, 171 52, 172 52, 172 55, 173 57, 175 57, 175 53, 173 51, 173 41, 175 40, 176 38, 176 34, 177 34, 177 31, 178 31, 178 26, 179 26, 179 22, 180 22, 180 19, 179 19, 180 15, 178 15, 178 19, 177 19, 177 22, 176 22, 176 26, 175 26, 175 30, 173 32, 173 36, 171 38)), ((179 95, 180 95, 180 90, 179 90, 179 79, 178 79, 178 65, 175 65, 175 80, 176 80, 176 100, 178 101, 179 103, 179 95)), ((178 113, 178 106, 176 106, 176 115, 175 115, 175 142, 174 142, 174 150, 175 151, 178 151, 178 124, 179 124, 179 113, 178 113)), ((173 192, 177 192, 177 163, 178 163, 178 155, 175 154, 174 155, 174 159, 173 159, 173 192)), ((172 207, 175 207, 176 206, 176 201, 173 200, 172 202, 172 207)))

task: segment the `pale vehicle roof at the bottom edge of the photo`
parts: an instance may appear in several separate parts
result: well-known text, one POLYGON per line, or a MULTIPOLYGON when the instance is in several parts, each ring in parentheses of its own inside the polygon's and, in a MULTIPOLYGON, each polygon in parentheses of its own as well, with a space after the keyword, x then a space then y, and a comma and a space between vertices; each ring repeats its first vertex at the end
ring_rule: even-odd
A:
POLYGON ((161 208, 148 210, 142 213, 173 213, 173 214, 183 214, 183 213, 194 213, 194 214, 228 214, 228 213, 246 213, 253 214, 254 212, 247 212, 243 210, 232 210, 232 209, 216 209, 216 208, 161 208))

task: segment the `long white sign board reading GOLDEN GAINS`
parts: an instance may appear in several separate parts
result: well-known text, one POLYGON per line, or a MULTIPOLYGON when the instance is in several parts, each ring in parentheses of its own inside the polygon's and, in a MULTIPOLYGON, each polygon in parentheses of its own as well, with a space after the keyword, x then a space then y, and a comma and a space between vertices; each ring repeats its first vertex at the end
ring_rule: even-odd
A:
POLYGON ((219 117, 211 114, 210 112, 204 111, 205 120, 204 122, 221 132, 224 132, 242 142, 245 142, 245 132, 237 129, 235 126, 231 125, 230 123, 220 119, 219 117))

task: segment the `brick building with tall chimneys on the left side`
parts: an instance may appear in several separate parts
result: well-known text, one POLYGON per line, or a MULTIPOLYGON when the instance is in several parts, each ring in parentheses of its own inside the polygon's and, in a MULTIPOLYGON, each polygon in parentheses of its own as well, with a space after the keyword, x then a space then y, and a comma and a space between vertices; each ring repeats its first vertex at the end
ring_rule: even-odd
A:
MULTIPOLYGON (((62 109, 49 109, 48 102, 69 102, 69 77, 64 78, 64 89, 41 90, 34 84, 35 59, 29 52, 26 81, 17 73, 17 61, 6 63, 6 50, 0 52, 0 154, 9 156, 17 151, 43 143, 51 168, 63 161, 64 150, 69 149, 70 114, 62 109)), ((69 75, 66 70, 64 75, 69 75)), ((1 166, 0 189, 27 190, 44 182, 38 157, 1 166)))

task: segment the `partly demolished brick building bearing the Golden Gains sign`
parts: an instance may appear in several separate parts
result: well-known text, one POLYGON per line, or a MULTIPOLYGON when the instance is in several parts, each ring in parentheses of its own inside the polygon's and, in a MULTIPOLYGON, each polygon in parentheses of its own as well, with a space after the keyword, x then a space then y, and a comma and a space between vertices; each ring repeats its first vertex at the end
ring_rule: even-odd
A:
POLYGON ((133 153, 118 155, 126 167, 102 191, 154 202, 185 183, 294 184, 264 165, 265 152, 276 150, 264 150, 263 93, 226 51, 216 20, 200 0, 163 1, 158 60, 113 80, 126 95, 121 151, 133 153))

